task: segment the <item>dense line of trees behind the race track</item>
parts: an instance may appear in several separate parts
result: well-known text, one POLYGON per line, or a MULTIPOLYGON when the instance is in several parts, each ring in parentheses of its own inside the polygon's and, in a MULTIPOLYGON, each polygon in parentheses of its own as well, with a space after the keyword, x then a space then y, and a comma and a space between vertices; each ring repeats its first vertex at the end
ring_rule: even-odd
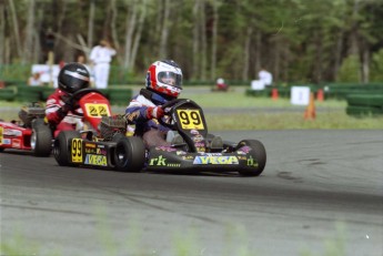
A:
POLYGON ((173 59, 194 81, 383 81, 381 0, 0 0, 0 64, 75 61, 100 39, 142 78, 173 59))

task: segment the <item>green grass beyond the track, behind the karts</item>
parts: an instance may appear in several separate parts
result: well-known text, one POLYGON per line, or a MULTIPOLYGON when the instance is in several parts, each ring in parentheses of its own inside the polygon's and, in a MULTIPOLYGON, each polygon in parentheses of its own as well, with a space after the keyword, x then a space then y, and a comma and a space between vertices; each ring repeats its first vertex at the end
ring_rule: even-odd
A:
MULTIPOLYGON (((291 129, 383 129, 383 115, 354 117, 345 113, 346 102, 326 100, 315 102, 316 117, 304 119, 304 106, 295 106, 289 99, 273 101, 266 98, 246 96, 243 91, 213 93, 206 90, 184 90, 183 99, 191 99, 205 110, 210 131, 222 130, 291 130, 291 129), (213 111, 212 110, 226 110, 213 111), (243 109, 235 112, 228 109, 243 109), (253 111, 252 111, 253 110, 253 111), (242 111, 242 112, 241 112, 242 111)), ((129 99, 127 99, 128 104, 129 99)), ((17 119, 23 103, 0 101, 0 119, 17 119)), ((117 107, 122 114, 124 107, 117 107)))

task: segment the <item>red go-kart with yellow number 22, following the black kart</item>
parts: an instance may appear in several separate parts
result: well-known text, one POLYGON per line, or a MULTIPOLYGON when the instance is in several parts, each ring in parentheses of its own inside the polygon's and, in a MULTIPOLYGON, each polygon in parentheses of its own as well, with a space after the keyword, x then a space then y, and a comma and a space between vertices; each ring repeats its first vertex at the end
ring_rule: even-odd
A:
MULTIPOLYGON (((111 116, 109 100, 95 89, 83 89, 73 93, 69 101, 82 110, 72 111, 83 116, 84 126, 79 133, 93 140, 102 137, 104 134, 101 134, 99 126, 102 117, 111 116)), ((42 105, 32 103, 19 112, 21 122, 0 122, 0 152, 18 149, 32 151, 36 156, 49 156, 56 127, 48 124, 44 113, 42 105)))

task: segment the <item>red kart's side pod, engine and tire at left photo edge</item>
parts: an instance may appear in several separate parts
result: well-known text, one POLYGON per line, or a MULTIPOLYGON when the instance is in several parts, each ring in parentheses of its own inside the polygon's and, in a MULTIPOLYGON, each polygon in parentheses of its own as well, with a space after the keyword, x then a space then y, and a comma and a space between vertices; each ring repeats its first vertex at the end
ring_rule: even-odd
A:
POLYGON ((44 122, 46 109, 33 102, 22 106, 20 121, 0 121, 0 152, 6 149, 32 151, 36 156, 49 156, 52 132, 44 122))

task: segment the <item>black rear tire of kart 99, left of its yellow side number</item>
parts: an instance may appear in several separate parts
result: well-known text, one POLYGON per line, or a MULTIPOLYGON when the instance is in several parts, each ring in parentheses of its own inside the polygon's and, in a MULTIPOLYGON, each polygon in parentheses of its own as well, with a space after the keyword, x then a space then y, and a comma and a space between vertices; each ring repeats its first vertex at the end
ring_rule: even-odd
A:
POLYGON ((71 166, 69 156, 71 149, 69 142, 72 139, 81 137, 78 131, 62 131, 59 133, 53 143, 53 155, 60 166, 71 166))

